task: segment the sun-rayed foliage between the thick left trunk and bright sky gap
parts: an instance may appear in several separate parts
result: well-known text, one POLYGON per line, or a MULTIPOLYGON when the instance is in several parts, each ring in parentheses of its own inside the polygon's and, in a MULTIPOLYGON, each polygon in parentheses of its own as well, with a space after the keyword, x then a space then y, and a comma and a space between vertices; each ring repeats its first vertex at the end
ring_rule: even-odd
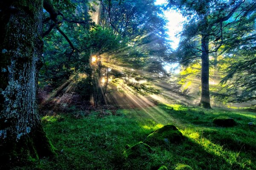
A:
MULTIPOLYGON (((76 92, 87 94, 88 98, 92 91, 101 95, 96 89, 101 89, 105 96, 109 83, 116 78, 157 79, 167 75, 163 69, 163 61, 170 50, 166 39, 166 20, 162 17, 163 10, 154 5, 154 0, 124 0, 122 3, 104 0, 101 4, 81 0, 52 2, 63 13, 58 27, 70 41, 55 27, 44 37, 44 66, 39 78, 41 88, 48 84, 57 88, 79 73, 99 81, 107 80, 96 83, 98 87, 93 86, 90 78, 76 81, 76 92), (98 5, 102 11, 93 8, 98 5), (101 14, 99 25, 92 21, 90 15, 93 12, 101 14), (94 63, 91 62, 93 56, 97 58, 94 63), (112 69, 116 65, 121 69, 112 69), (144 70, 147 75, 136 73, 134 69, 144 70)), ((52 25, 48 17, 49 14, 44 13, 44 31, 52 25)), ((159 93, 149 83, 131 86, 143 94, 159 93)))

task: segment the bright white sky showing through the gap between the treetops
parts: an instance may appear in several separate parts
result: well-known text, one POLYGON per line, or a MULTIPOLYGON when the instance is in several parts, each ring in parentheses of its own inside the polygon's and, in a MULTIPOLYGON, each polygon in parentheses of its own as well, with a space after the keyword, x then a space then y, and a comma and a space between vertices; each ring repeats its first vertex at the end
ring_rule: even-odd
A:
MULTIPOLYGON (((156 5, 167 4, 167 1, 156 0, 155 4, 156 5)), ((185 20, 185 18, 182 17, 182 14, 178 13, 175 10, 164 11, 164 15, 168 20, 166 28, 168 28, 169 30, 168 31, 169 39, 172 41, 170 42, 170 45, 172 46, 173 49, 176 49, 180 42, 180 37, 178 37, 177 35, 182 30, 182 22, 185 20)), ((178 67, 179 67, 178 63, 164 65, 164 68, 166 69, 166 71, 170 71, 172 69, 172 72, 176 74, 180 72, 180 69, 178 67)))

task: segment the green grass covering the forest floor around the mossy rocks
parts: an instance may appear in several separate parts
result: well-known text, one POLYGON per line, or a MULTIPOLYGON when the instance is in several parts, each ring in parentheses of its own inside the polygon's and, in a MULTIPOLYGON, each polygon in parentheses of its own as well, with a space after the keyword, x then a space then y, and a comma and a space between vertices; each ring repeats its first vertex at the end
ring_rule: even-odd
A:
POLYGON ((71 113, 42 119, 58 156, 15 169, 157 170, 164 165, 174 170, 177 164, 189 165, 194 170, 256 169, 256 128, 247 125, 256 122, 253 112, 158 105, 120 109, 115 115, 104 117, 92 112, 81 119, 71 113), (216 116, 232 117, 237 125, 212 125, 216 116), (180 144, 151 147, 153 152, 146 158, 125 158, 126 144, 143 142, 153 130, 168 123, 174 124, 186 140, 180 144))

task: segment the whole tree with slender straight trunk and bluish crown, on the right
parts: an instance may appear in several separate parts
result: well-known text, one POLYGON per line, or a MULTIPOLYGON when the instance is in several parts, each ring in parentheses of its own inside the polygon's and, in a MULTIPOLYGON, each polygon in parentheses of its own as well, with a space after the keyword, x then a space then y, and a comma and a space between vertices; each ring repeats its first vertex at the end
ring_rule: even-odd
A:
POLYGON ((253 0, 170 0, 169 6, 178 7, 189 18, 182 33, 183 39, 177 50, 178 60, 188 62, 201 58, 201 100, 199 106, 211 108, 209 96, 209 54, 215 53, 230 35, 239 34, 238 28, 253 11, 253 0), (233 27, 233 28, 232 28, 233 27))

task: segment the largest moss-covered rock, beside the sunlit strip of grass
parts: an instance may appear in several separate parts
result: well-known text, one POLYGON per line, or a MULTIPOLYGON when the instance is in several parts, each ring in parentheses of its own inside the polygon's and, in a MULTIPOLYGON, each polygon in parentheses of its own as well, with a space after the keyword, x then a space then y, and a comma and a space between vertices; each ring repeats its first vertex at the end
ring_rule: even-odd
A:
POLYGON ((178 143, 184 136, 175 125, 167 124, 160 129, 155 130, 147 136, 145 143, 150 145, 163 145, 169 143, 178 143))

